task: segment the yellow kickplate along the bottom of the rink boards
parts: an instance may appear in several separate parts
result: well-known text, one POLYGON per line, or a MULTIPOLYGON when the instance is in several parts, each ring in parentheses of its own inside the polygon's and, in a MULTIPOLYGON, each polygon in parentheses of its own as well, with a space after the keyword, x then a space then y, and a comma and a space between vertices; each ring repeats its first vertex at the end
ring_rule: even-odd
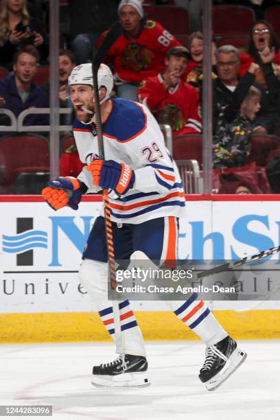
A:
MULTIPOLYGON (((280 338, 280 310, 214 311, 236 339, 280 338)), ((136 312, 145 340, 197 340, 172 312, 136 312)), ((0 314, 0 342, 110 341, 100 316, 93 312, 0 314)))

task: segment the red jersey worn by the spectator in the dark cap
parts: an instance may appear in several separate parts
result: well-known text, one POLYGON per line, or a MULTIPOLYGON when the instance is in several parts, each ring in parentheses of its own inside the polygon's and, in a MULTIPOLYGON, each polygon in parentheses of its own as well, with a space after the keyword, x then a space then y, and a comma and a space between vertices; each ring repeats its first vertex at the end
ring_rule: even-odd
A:
POLYGON ((138 89, 139 101, 156 112, 160 124, 169 124, 173 135, 200 134, 198 91, 183 80, 165 91, 163 82, 161 74, 142 82, 138 89))

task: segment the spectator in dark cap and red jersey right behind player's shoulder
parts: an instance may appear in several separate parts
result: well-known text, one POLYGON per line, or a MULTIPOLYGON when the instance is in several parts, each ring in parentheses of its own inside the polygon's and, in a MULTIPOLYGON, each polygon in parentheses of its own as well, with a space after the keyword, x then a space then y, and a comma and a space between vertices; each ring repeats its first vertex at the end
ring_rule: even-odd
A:
POLYGON ((200 134, 199 95, 181 78, 190 58, 185 47, 172 47, 165 58, 165 71, 146 79, 138 89, 140 102, 155 112, 160 124, 169 124, 172 135, 200 134))

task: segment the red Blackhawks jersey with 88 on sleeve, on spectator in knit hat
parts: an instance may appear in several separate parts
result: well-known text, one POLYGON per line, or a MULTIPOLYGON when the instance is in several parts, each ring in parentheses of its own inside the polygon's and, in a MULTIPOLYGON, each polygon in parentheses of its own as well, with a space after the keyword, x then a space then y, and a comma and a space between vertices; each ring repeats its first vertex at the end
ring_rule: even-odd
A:
MULTIPOLYGON (((100 38, 102 43, 106 32, 100 38)), ((139 83, 164 69, 164 58, 171 47, 180 45, 158 22, 146 21, 137 38, 117 38, 106 62, 113 63, 116 84, 139 83)))

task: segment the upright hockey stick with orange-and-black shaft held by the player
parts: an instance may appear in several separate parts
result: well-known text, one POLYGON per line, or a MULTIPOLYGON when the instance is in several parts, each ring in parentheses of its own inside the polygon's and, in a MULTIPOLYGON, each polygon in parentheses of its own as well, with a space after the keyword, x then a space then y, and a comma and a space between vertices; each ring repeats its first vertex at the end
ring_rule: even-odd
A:
MULTIPOLYGON (((105 159, 104 155, 104 140, 102 134, 102 117, 101 117, 101 108, 100 108, 100 98, 99 98, 99 87, 98 87, 98 78, 97 73, 100 68, 100 64, 106 57, 108 50, 115 43, 115 40, 119 37, 122 32, 121 23, 115 22, 110 30, 108 31, 106 38, 104 39, 102 45, 97 50, 95 57, 93 58, 93 97, 95 102, 95 126, 97 133, 97 142, 98 142, 98 155, 100 159, 105 159)), ((116 272, 115 272, 115 249, 113 242, 113 228, 112 222, 110 220, 110 201, 108 198, 108 189, 102 189, 102 196, 104 202, 104 222, 105 222, 105 232, 106 232, 106 246, 108 253, 108 262, 109 262, 109 273, 110 273, 110 286, 111 289, 115 290, 116 283, 116 272)), ((116 344, 119 342, 121 345, 121 322, 119 314, 119 302, 112 301, 113 305, 113 314, 115 320, 115 340, 116 344)), ((122 346, 121 346, 122 347, 122 346)))

